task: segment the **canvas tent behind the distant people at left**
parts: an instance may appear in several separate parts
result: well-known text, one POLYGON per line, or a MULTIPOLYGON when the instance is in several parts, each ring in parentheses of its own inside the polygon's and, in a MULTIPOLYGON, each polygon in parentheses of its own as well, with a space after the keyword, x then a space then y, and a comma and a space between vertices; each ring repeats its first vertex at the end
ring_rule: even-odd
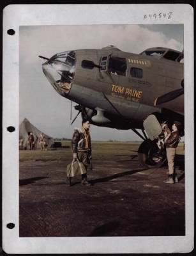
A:
POLYGON ((34 136, 34 148, 41 147, 40 141, 39 141, 41 133, 45 137, 45 141, 47 143, 48 148, 50 148, 52 143, 54 143, 53 138, 51 138, 47 134, 41 132, 33 124, 31 124, 31 122, 29 122, 29 120, 27 120, 27 118, 24 118, 24 120, 22 121, 22 123, 20 124, 20 127, 19 127, 19 143, 22 140, 22 148, 24 148, 24 149, 28 148, 27 140, 28 140, 29 132, 32 132, 33 136, 34 136))

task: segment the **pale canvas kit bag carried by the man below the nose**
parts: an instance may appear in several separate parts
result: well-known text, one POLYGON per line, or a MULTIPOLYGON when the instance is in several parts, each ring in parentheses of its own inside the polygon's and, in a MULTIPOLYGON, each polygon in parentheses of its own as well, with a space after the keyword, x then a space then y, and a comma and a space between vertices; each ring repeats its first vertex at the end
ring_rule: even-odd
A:
POLYGON ((86 168, 83 163, 79 161, 79 159, 73 159, 71 164, 68 164, 66 167, 66 175, 67 177, 71 178, 76 175, 82 175, 86 173, 86 168))

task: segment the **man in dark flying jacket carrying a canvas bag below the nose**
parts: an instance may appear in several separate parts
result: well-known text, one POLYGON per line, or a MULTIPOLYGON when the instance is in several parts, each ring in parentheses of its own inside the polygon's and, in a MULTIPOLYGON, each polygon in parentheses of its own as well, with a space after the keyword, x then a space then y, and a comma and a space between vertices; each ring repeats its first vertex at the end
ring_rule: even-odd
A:
MULTIPOLYGON (((87 119, 82 120, 82 129, 75 129, 72 137, 72 152, 73 159, 78 159, 84 164, 86 170, 88 166, 88 157, 91 156, 91 124, 87 119)), ((71 179, 68 178, 67 183, 71 185, 71 179)), ((82 185, 91 186, 91 183, 87 180, 87 173, 82 174, 82 185)))

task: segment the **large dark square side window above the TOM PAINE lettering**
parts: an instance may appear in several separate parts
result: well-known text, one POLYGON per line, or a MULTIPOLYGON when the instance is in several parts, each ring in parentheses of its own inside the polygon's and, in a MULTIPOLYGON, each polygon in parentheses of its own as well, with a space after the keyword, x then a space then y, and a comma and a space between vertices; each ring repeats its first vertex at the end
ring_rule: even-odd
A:
POLYGON ((120 57, 110 57, 109 59, 109 72, 113 74, 126 76, 126 59, 120 57))

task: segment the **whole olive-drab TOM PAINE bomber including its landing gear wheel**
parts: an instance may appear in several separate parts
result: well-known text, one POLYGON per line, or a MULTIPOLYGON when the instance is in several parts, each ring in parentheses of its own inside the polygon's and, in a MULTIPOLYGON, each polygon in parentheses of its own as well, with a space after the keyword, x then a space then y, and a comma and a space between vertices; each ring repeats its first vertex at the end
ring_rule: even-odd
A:
POLYGON ((158 122, 184 125, 183 52, 154 47, 134 54, 109 45, 40 57, 47 60, 42 68, 50 84, 78 104, 82 117, 98 126, 132 129, 144 140, 139 161, 147 167, 162 163, 153 162, 143 122, 153 114, 158 122))

